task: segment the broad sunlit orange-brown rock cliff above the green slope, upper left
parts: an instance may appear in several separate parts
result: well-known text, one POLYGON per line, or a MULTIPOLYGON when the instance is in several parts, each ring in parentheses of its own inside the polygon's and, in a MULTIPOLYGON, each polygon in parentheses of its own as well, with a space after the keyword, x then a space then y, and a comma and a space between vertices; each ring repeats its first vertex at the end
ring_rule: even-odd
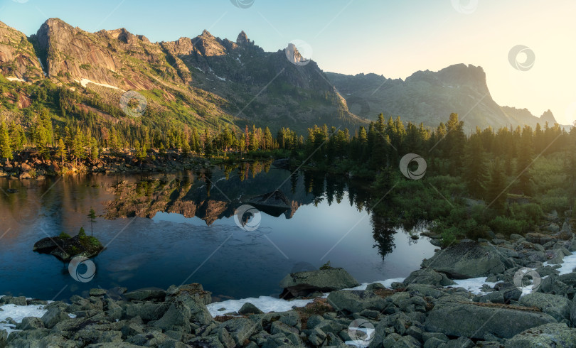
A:
POLYGON ((146 72, 154 67, 159 72, 174 72, 164 64, 159 45, 124 28, 87 33, 50 18, 31 40, 38 47, 48 77, 61 82, 90 80, 120 89, 153 89, 156 81, 146 72))

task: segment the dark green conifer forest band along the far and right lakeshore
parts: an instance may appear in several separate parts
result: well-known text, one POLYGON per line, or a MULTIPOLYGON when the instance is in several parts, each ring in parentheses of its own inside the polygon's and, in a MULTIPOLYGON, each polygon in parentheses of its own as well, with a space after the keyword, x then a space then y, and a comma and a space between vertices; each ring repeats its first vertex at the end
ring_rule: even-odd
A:
POLYGON ((6 163, 21 151, 80 167, 102 154, 114 158, 120 153, 131 154, 139 163, 166 158, 167 153, 188 161, 290 158, 293 168, 365 180, 378 193, 373 210, 387 224, 410 229, 434 222, 432 229, 442 234, 445 245, 494 232, 525 233, 537 227, 544 214, 564 212, 575 204, 574 127, 565 130, 546 123, 535 129, 487 128, 466 134, 457 114, 434 129, 380 114, 378 121, 358 129, 324 124, 297 134, 287 127, 247 124, 194 127, 151 111, 114 123, 78 107, 123 115, 96 93, 87 96, 50 82, 18 87, 4 83, 1 88, 3 104, 9 105, 4 92, 18 95, 18 89, 25 88, 33 96, 28 107, 14 109, 21 117, 1 121, 0 155, 6 163), (400 158, 407 153, 425 160, 421 180, 400 173, 400 158))

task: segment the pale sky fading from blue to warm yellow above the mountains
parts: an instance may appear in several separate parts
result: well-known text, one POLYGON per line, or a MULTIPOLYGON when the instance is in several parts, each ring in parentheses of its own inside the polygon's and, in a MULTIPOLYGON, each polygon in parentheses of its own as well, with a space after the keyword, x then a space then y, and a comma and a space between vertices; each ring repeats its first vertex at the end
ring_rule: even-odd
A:
POLYGON ((231 40, 244 30, 270 51, 304 40, 322 70, 346 74, 405 79, 480 65, 498 104, 536 116, 551 109, 562 124, 576 119, 575 0, 0 0, 0 21, 27 35, 50 17, 86 31, 125 27, 152 41, 203 29, 231 40), (508 61, 516 45, 533 52, 526 71, 508 61))

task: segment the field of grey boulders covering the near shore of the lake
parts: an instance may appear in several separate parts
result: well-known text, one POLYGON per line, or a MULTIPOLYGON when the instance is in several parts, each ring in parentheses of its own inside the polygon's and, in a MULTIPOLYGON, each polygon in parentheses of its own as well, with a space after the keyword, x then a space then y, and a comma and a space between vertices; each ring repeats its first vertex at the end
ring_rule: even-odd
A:
POLYGON ((311 303, 288 312, 247 303, 213 317, 199 284, 93 289, 89 298, 46 305, 43 317, 16 325, 21 331, 0 332, 0 347, 576 347, 576 273, 558 271, 576 238, 569 224, 556 226, 454 244, 391 288, 358 286, 341 268, 292 273, 282 280, 284 296, 311 303), (523 294, 526 268, 542 279, 523 294), (474 277, 496 285, 475 294, 455 283, 474 277))

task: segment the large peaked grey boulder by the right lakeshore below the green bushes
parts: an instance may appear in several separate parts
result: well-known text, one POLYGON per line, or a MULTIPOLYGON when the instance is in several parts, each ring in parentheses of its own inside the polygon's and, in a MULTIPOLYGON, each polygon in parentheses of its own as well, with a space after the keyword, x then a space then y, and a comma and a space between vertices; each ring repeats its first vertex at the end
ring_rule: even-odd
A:
POLYGON ((430 259, 422 261, 421 266, 445 273, 452 279, 466 279, 503 273, 513 263, 498 253, 494 246, 481 246, 469 241, 437 252, 430 259))

